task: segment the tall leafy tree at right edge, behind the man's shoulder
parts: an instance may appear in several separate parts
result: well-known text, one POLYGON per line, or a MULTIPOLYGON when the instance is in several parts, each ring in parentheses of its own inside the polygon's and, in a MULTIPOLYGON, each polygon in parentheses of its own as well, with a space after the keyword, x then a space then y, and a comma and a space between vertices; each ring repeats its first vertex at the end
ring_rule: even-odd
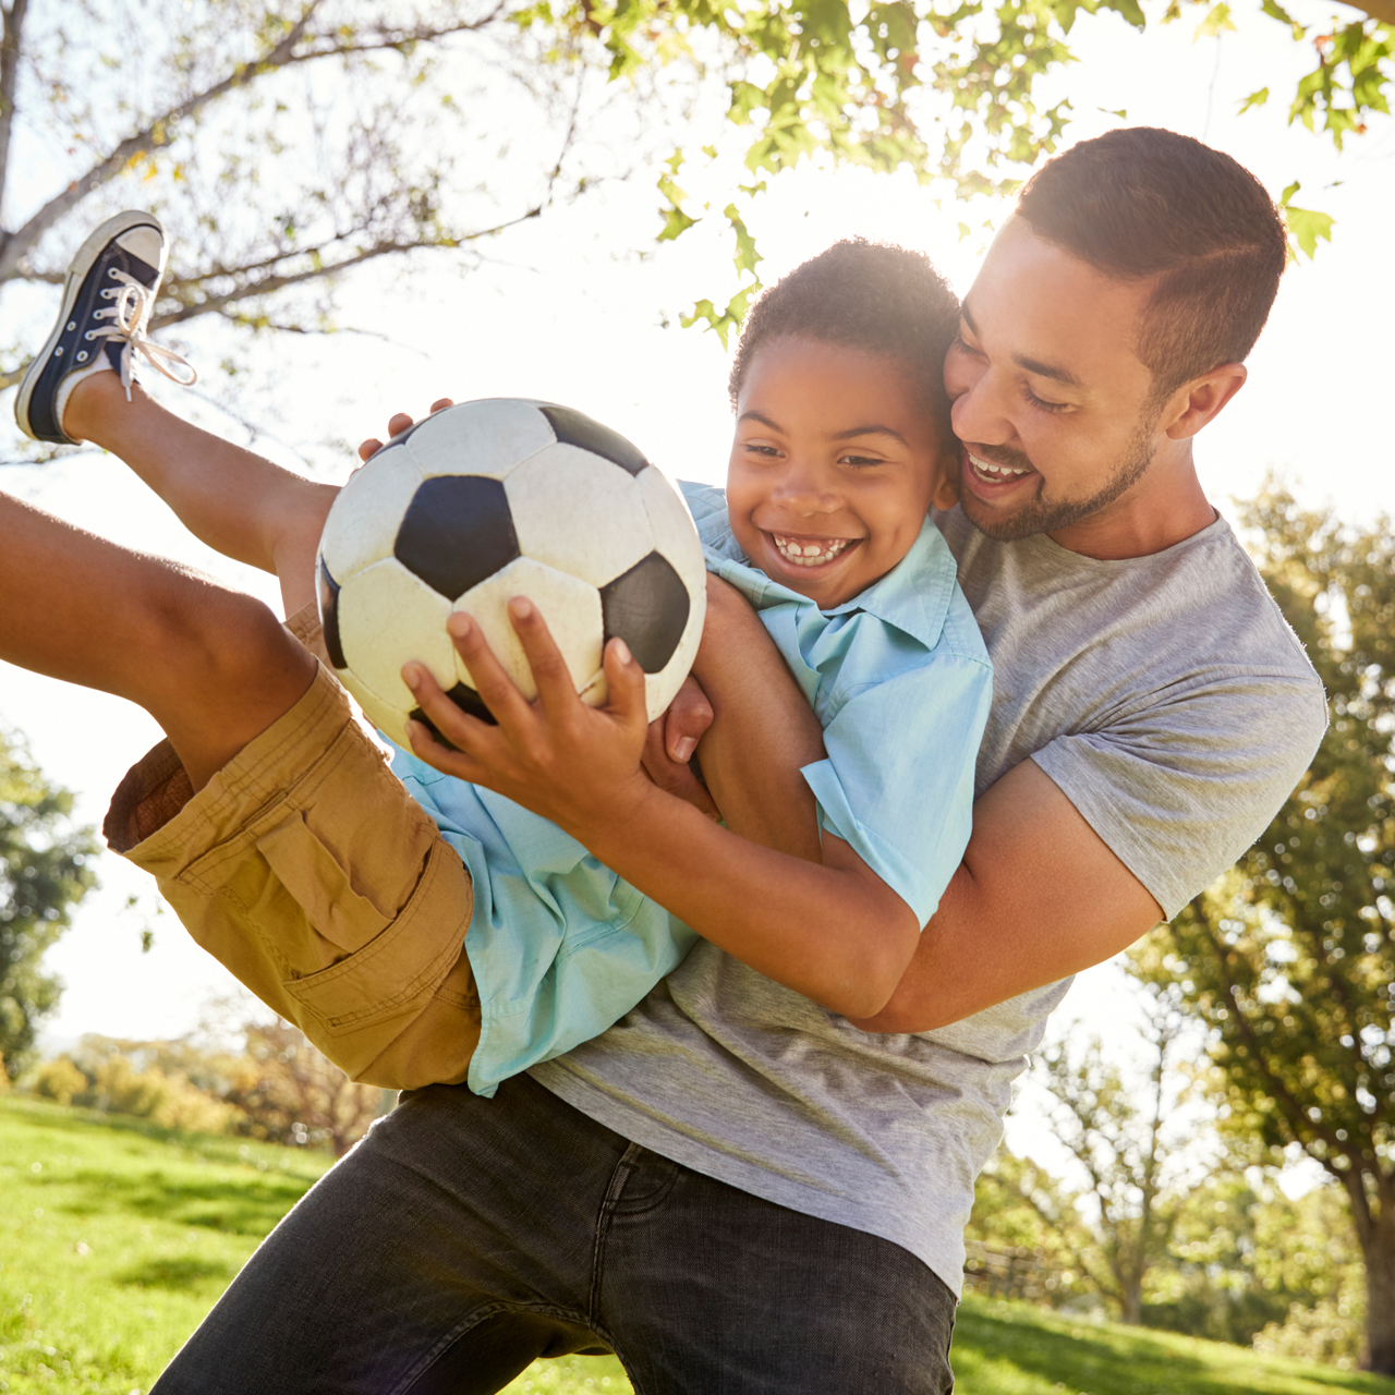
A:
POLYGON ((1268 488, 1242 515, 1331 703, 1311 769, 1233 873, 1138 953, 1211 1032, 1232 1127, 1341 1186, 1367 1364, 1395 1373, 1395 541, 1268 488))

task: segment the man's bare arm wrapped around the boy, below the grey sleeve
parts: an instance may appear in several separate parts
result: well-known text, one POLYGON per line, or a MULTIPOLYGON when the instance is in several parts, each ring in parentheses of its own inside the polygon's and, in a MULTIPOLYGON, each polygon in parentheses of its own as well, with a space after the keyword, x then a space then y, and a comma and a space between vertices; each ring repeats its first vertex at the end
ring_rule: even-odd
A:
MULTIPOLYGON (((699 746, 732 831, 819 859, 813 794, 799 767, 823 731, 756 614, 721 583, 695 672, 716 710, 699 746)), ((944 1027, 1127 949, 1156 901, 1031 760, 974 806, 974 833, 915 957, 868 1031, 944 1027)))

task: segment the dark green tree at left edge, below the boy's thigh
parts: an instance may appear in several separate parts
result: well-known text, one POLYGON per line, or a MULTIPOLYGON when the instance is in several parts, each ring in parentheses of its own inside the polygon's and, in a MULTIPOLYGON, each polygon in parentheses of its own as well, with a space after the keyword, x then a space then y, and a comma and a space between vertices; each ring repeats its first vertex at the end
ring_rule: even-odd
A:
POLYGON ((0 731, 0 1066, 18 1074, 63 985, 42 960, 96 877, 89 829, 73 795, 50 784, 13 732, 0 731))

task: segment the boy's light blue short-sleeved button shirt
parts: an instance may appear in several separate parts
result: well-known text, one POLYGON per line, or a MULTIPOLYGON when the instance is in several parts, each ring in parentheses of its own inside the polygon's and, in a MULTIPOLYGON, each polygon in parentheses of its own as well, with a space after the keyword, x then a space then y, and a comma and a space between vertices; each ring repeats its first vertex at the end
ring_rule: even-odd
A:
MULTIPOLYGON (((968 841, 992 671, 954 558, 929 522, 861 596, 823 612, 748 564, 720 490, 685 484, 710 571, 751 600, 824 727, 804 769, 820 826, 923 925, 968 841)), ((470 1088, 604 1031, 696 936, 554 823, 395 748, 393 770, 474 882, 465 947, 481 1004, 470 1088)))

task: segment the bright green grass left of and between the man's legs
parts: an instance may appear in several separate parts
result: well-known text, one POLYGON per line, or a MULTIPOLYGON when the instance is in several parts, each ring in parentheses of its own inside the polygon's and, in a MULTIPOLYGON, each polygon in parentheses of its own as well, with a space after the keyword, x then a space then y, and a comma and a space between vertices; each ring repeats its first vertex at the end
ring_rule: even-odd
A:
MULTIPOLYGON (((144 1395, 329 1162, 0 1095, 0 1392, 144 1395)), ((614 1357, 509 1387, 593 1389, 629 1391, 614 1357)))

